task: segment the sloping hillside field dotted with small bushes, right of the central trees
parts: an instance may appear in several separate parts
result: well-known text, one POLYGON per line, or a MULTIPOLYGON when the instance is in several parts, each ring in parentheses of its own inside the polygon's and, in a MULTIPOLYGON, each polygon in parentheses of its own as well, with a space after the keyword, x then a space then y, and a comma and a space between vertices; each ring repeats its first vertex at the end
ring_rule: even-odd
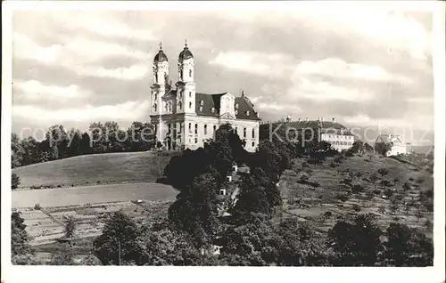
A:
POLYGON ((434 187, 431 174, 392 158, 356 156, 343 160, 338 166, 334 166, 332 161, 333 158, 328 158, 323 164, 303 167, 303 159, 294 161, 293 170, 285 171, 279 184, 285 205, 277 214, 277 221, 298 217, 301 221, 314 224, 319 231, 326 232, 339 220, 371 213, 376 215, 377 223, 382 228, 389 222, 399 221, 423 229, 427 236, 432 237, 434 215, 419 200, 422 192, 434 187), (377 174, 376 182, 369 180, 370 174, 383 167, 387 169, 387 174, 377 174), (308 180, 304 177, 304 182, 303 174, 309 177, 308 180), (352 185, 361 185, 364 189, 351 193, 351 185, 345 183, 345 179, 349 178, 352 185), (392 206, 391 197, 384 196, 381 178, 391 181, 385 189, 400 195, 398 205, 392 206), (350 194, 347 198, 339 199, 348 191, 350 194))

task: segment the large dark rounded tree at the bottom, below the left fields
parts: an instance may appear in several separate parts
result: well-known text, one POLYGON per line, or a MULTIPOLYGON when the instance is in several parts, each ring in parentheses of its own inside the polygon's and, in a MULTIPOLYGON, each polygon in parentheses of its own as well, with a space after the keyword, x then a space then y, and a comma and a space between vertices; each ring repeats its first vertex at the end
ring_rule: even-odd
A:
POLYGON ((104 265, 122 265, 137 257, 136 222, 122 211, 109 215, 103 233, 93 243, 94 255, 104 265))

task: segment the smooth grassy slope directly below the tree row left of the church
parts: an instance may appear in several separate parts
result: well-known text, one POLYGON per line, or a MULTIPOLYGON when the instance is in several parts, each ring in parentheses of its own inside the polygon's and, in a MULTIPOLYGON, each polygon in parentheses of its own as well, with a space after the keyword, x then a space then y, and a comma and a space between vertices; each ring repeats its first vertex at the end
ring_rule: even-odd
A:
POLYGON ((169 160, 152 152, 106 153, 22 166, 12 173, 21 178, 19 188, 153 182, 169 160))

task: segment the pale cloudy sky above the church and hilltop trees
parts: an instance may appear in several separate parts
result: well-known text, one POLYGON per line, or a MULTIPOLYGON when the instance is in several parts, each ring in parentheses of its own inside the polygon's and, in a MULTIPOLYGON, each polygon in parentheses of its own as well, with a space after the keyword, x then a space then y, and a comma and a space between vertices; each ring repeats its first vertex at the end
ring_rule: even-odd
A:
POLYGON ((197 91, 244 89, 264 120, 433 130, 432 13, 338 8, 16 11, 12 131, 147 121, 159 43, 175 82, 185 39, 197 91))

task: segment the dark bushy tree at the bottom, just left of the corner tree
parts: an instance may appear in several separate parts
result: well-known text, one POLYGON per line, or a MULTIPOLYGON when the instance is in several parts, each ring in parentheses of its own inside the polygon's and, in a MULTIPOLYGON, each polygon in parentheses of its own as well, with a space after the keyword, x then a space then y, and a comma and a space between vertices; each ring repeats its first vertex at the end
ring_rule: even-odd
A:
POLYGON ((381 234, 371 214, 359 214, 353 223, 337 222, 328 230, 335 266, 374 266, 382 250, 381 234))

